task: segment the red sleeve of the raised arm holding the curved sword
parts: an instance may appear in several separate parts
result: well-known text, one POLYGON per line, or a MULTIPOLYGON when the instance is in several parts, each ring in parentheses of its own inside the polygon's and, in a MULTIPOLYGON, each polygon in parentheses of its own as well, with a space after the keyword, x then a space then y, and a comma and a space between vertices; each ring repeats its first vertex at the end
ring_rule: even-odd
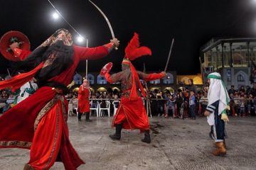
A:
POLYGON ((87 48, 74 45, 74 51, 78 54, 80 60, 96 60, 105 57, 109 53, 104 46, 87 48))

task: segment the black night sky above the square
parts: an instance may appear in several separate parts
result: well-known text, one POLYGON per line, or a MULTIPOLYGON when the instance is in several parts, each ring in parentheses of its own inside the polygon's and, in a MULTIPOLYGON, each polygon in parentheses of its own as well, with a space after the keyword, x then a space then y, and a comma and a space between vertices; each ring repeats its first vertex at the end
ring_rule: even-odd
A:
MULTIPOLYGON (((253 0, 92 0, 109 18, 114 34, 120 40, 119 50, 102 60, 89 61, 89 72, 100 72, 107 62, 112 71, 121 69, 124 48, 134 32, 141 45, 150 47, 152 56, 141 57, 134 66, 146 71, 163 71, 172 38, 174 48, 167 70, 177 74, 200 73, 199 50, 210 38, 255 37, 256 2, 253 0)), ((51 1, 65 19, 89 40, 89 47, 103 45, 112 38, 107 23, 87 0, 51 1)), ((54 8, 44 1, 1 0, 0 36, 9 30, 19 30, 31 41, 34 50, 58 28, 75 31, 63 19, 52 18, 54 8)), ((74 40, 75 42, 75 40, 74 40)), ((85 46, 85 43, 82 45, 85 46)), ((0 55, 0 73, 7 73, 10 62, 0 55)), ((85 72, 85 62, 78 71, 85 72)))

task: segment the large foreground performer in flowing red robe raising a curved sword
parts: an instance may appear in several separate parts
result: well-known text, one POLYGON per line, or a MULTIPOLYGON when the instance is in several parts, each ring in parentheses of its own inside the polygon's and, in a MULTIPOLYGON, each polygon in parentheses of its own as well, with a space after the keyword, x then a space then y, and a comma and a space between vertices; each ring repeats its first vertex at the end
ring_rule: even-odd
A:
POLYGON ((73 45, 68 30, 59 29, 33 52, 21 51, 20 56, 28 55, 20 66, 27 72, 1 81, 0 89, 16 91, 35 77, 38 90, 0 117, 0 148, 31 149, 26 170, 50 169, 55 161, 63 162, 68 170, 85 164, 68 137, 66 86, 80 60, 105 57, 118 45, 114 39, 99 47, 80 47, 73 45))

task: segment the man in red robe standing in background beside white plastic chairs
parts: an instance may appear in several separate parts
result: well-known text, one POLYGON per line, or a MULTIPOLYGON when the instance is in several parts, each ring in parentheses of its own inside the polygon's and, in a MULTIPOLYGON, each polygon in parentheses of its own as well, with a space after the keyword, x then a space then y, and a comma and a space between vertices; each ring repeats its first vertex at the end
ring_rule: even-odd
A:
POLYGON ((85 113, 85 121, 90 122, 90 86, 89 81, 84 79, 78 91, 78 121, 81 121, 82 113, 85 113))

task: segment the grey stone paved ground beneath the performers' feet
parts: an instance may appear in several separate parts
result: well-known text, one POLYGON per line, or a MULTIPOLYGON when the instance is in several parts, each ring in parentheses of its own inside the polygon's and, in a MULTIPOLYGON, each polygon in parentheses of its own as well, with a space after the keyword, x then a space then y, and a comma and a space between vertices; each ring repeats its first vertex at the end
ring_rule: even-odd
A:
MULTIPOLYGON (((154 130, 149 145, 140 141, 143 134, 138 130, 123 130, 122 140, 110 140, 112 118, 92 118, 92 123, 85 123, 69 117, 68 125, 70 140, 86 162, 78 169, 256 169, 256 117, 230 119, 225 157, 210 154, 213 141, 206 118, 151 118, 154 130)), ((0 169, 23 169, 28 158, 26 149, 0 149, 0 169)), ((55 169, 64 166, 55 163, 55 169)))

